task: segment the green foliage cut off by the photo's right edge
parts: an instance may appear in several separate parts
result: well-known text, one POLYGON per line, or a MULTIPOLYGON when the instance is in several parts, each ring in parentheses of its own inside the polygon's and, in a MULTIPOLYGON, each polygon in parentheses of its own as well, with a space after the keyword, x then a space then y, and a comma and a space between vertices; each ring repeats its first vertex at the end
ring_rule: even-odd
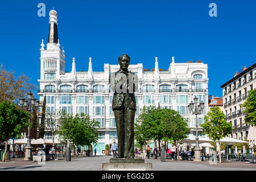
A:
POLYGON ((249 90, 248 97, 246 101, 242 104, 245 109, 245 122, 249 123, 251 126, 256 126, 256 90, 249 90))

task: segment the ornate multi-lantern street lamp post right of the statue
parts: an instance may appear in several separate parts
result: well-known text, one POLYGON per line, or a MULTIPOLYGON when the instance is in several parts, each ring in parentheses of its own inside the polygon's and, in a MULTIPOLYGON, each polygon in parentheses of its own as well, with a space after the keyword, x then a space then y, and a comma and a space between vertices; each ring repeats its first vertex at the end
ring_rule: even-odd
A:
POLYGON ((194 148, 194 151, 195 151, 195 159, 194 161, 201 161, 200 160, 200 146, 199 146, 199 141, 198 141, 198 118, 197 118, 197 115, 198 114, 202 114, 203 113, 203 107, 205 106, 205 103, 200 102, 198 103, 198 98, 197 97, 194 97, 194 102, 191 101, 190 104, 188 105, 189 107, 189 111, 190 113, 193 115, 195 114, 195 148, 194 148), (195 106, 195 108, 194 108, 195 106))

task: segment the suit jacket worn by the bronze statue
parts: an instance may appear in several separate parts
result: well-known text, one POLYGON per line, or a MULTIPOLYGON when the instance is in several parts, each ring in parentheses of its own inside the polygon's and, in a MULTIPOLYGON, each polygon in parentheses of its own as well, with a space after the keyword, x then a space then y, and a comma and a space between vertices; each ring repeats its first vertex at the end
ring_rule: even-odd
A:
POLYGON ((110 84, 111 84, 111 89, 114 90, 114 96, 112 100, 112 109, 113 110, 118 110, 121 109, 124 100, 126 99, 126 107, 129 107, 129 109, 134 109, 136 110, 136 100, 135 100, 135 94, 134 92, 137 91, 138 84, 137 81, 137 76, 134 76, 135 73, 131 72, 124 72, 121 69, 119 69, 117 72, 112 73, 110 76, 110 84), (131 76, 133 77, 133 93, 129 93, 129 85, 127 83, 127 94, 125 93, 117 93, 115 90, 115 86, 122 81, 122 77, 117 76, 119 73, 123 73, 126 75, 127 81, 128 78, 131 76), (112 75, 114 74, 114 75, 112 75))

